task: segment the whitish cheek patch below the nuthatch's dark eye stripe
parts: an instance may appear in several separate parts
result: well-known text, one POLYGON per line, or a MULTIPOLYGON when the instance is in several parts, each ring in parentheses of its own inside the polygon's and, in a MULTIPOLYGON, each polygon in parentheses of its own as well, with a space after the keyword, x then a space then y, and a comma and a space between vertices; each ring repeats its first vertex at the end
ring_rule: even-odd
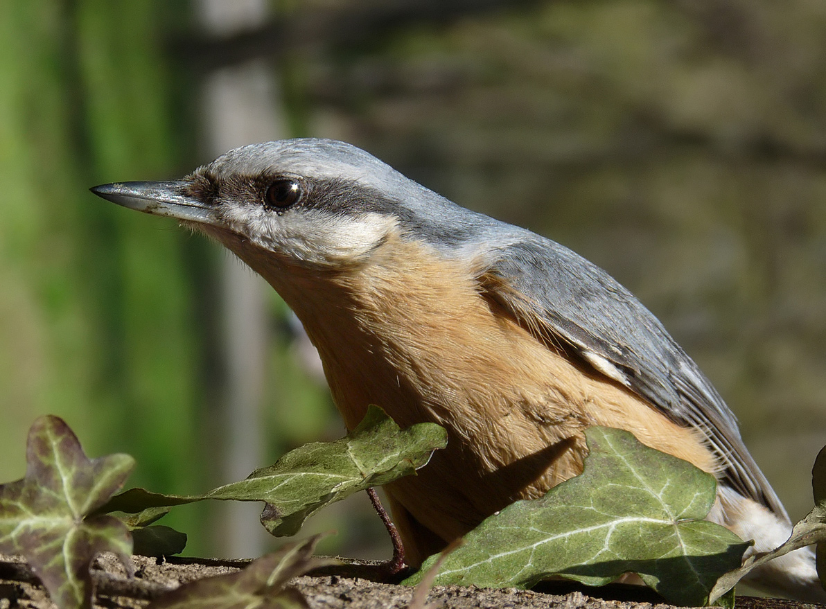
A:
POLYGON ((312 264, 340 264, 363 259, 396 231, 396 219, 370 212, 330 215, 296 209, 278 216, 263 208, 233 210, 225 216, 230 230, 267 250, 312 264))

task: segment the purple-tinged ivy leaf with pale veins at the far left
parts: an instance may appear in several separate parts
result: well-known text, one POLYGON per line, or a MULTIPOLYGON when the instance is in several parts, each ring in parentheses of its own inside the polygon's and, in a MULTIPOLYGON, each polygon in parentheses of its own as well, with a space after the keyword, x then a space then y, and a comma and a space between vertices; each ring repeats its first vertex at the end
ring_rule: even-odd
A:
POLYGON ((114 552, 131 568, 129 530, 112 516, 90 516, 135 465, 128 454, 88 459, 57 416, 29 430, 26 477, 0 485, 0 553, 22 554, 60 609, 90 607, 89 566, 114 552))

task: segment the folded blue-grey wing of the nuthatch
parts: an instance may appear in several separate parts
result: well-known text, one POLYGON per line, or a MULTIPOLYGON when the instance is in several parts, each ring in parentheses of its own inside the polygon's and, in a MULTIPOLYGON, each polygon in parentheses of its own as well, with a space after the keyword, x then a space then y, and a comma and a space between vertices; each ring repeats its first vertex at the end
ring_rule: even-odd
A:
POLYGON ((699 428, 725 465, 723 482, 786 516, 723 398, 628 290, 582 256, 533 233, 488 255, 484 288, 525 328, 577 354, 672 421, 699 428))

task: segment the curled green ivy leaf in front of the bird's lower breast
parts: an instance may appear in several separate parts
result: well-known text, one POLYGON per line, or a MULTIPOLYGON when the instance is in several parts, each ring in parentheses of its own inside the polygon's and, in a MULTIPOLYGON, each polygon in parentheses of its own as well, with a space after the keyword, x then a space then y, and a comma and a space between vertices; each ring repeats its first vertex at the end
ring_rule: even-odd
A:
POLYGON ((220 499, 261 501, 261 523, 273 535, 295 535, 322 507, 354 492, 415 473, 434 450, 447 445, 447 432, 434 423, 401 430, 381 408, 371 406, 358 426, 341 440, 314 442, 282 456, 249 478, 203 495, 164 495, 132 488, 101 511, 137 512, 150 507, 220 499))

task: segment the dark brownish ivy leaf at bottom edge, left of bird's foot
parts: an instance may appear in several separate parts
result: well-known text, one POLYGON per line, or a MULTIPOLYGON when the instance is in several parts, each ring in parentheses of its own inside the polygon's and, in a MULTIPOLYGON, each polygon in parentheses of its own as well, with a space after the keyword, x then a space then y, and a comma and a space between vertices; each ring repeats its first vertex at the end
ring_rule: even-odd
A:
POLYGON ((286 586, 311 569, 337 563, 313 557, 320 537, 287 544, 243 571, 184 584, 151 602, 147 609, 309 609, 301 592, 286 586))

